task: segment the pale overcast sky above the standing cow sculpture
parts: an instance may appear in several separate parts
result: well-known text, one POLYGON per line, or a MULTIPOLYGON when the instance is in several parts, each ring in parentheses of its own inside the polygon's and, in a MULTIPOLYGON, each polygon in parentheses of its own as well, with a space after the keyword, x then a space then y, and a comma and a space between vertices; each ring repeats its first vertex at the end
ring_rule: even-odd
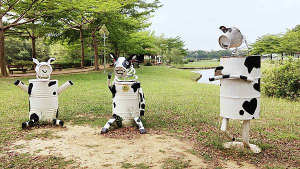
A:
POLYGON ((279 33, 300 24, 300 0, 160 0, 150 30, 177 35, 190 50, 219 50, 219 26, 235 26, 254 42, 266 33, 279 33))

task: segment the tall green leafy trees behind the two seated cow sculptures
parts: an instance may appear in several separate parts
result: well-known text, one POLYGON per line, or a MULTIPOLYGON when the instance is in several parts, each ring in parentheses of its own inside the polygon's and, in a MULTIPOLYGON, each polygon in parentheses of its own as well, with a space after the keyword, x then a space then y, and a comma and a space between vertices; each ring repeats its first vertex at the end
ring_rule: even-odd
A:
POLYGON ((93 55, 98 69, 104 58, 103 38, 98 32, 103 24, 109 31, 106 57, 108 52, 117 56, 168 55, 174 50, 185 55, 179 36, 155 36, 146 30, 151 14, 161 6, 159 0, 3 0, 1 76, 7 76, 6 64, 25 64, 29 57, 44 60, 54 56, 63 66, 83 68, 93 55))

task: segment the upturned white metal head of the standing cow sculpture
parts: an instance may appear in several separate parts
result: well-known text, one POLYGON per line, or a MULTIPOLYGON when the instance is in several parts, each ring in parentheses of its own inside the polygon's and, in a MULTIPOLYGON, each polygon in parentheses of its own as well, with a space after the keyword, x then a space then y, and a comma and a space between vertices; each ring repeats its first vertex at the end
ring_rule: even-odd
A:
POLYGON ((242 43, 242 35, 238 28, 231 27, 219 37, 218 42, 223 49, 238 47, 242 43))

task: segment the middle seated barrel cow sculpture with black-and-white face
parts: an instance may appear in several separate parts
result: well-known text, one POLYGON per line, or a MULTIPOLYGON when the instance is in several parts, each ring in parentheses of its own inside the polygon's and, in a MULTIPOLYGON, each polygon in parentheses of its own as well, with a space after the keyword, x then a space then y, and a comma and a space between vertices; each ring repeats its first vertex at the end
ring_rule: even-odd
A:
POLYGON ((117 127, 131 126, 136 123, 139 132, 145 133, 145 129, 140 120, 140 116, 144 115, 145 98, 140 87, 140 81, 137 81, 135 69, 131 64, 132 59, 136 58, 136 54, 130 55, 128 58, 118 57, 114 53, 109 55, 114 61, 114 79, 112 85, 110 78, 112 73, 108 73, 107 84, 112 93, 112 116, 105 123, 101 133, 106 133, 113 122, 117 127), (133 77, 133 79, 130 79, 133 77), (123 78, 123 79, 119 79, 123 78))

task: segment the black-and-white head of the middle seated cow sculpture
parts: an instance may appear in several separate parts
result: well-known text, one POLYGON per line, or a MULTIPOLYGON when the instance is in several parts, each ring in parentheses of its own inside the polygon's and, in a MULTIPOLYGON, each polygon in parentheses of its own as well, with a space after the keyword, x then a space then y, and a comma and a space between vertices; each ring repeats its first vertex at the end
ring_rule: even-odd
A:
POLYGON ((136 58, 136 54, 131 54, 128 58, 125 57, 118 57, 114 55, 114 53, 109 53, 110 57, 113 58, 114 61, 114 75, 117 77, 129 77, 131 76, 131 72, 133 71, 133 74, 135 73, 135 69, 131 65, 132 59, 136 58))

